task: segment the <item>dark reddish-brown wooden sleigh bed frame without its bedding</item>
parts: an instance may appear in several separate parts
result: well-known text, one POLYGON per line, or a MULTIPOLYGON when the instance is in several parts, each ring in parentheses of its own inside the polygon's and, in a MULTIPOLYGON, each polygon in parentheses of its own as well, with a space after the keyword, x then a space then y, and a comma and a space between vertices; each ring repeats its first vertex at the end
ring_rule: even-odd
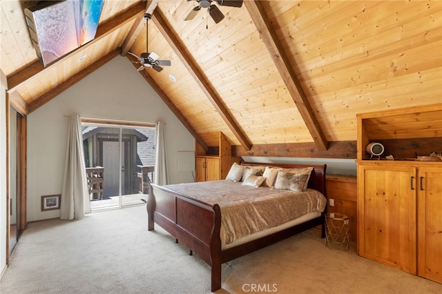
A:
MULTIPOLYGON (((326 165, 303 164, 269 164, 242 162, 242 166, 269 166, 278 168, 306 168, 313 167, 307 188, 318 190, 327 197, 325 189, 326 165)), ((218 181, 217 181, 218 182, 218 181)), ((186 185, 186 184, 183 184, 186 185)), ((294 226, 282 226, 281 231, 271 231, 267 235, 260 235, 238 245, 224 246, 220 238, 222 231, 222 215, 218 204, 208 204, 191 195, 178 193, 168 186, 150 184, 147 213, 148 230, 153 231, 155 223, 173 235, 179 242, 187 246, 191 252, 201 257, 211 266, 211 291, 221 288, 221 266, 243 255, 247 255, 260 248, 269 246, 282 239, 287 239, 302 231, 315 226, 322 227, 321 237, 325 237, 324 213, 316 213, 314 218, 294 226)), ((327 199, 325 199, 327 203, 327 199)))

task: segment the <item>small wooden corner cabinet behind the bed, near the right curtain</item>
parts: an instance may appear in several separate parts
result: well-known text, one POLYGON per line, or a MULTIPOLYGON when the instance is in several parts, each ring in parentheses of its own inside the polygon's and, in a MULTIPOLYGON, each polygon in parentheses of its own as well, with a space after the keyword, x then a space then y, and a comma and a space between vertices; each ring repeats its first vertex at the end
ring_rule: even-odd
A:
POLYGON ((203 150, 195 142, 195 181, 215 181, 225 179, 233 162, 239 158, 231 156, 231 144, 221 132, 203 134, 205 141, 209 142, 209 149, 203 150))

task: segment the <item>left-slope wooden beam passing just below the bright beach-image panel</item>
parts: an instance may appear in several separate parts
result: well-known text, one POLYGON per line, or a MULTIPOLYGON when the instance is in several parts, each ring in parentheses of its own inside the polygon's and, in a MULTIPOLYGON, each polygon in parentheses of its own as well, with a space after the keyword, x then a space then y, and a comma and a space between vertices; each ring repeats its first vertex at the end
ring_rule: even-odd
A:
MULTIPOLYGON (((99 40, 104 39, 108 35, 115 32, 115 30, 118 30, 121 26, 124 26, 126 23, 133 21, 137 17, 140 17, 140 15, 142 17, 144 8, 144 2, 140 2, 137 3, 135 6, 128 8, 124 12, 116 15, 112 19, 109 19, 102 25, 98 26, 97 33, 95 34, 95 39, 93 39, 93 41, 90 41, 89 43, 84 44, 83 46, 81 46, 81 48, 92 46, 94 43, 97 43, 99 40)), ((76 52, 76 50, 65 55, 63 58, 58 59, 46 68, 39 61, 26 66, 26 68, 17 72, 15 75, 8 77, 8 92, 13 92, 23 84, 26 84, 26 82, 30 81, 31 79, 39 77, 47 70, 50 70, 50 68, 52 68, 56 64, 63 62, 64 59, 70 57, 70 55, 73 55, 74 52, 76 52)))

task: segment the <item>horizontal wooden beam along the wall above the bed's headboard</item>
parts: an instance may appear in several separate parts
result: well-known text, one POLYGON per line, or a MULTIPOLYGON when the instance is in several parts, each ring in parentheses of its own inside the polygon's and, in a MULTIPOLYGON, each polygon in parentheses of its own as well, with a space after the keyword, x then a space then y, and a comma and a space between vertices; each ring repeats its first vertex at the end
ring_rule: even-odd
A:
POLYGON ((331 141, 328 150, 319 150, 312 142, 260 144, 253 145, 251 150, 232 146, 232 156, 356 159, 356 141, 331 141))

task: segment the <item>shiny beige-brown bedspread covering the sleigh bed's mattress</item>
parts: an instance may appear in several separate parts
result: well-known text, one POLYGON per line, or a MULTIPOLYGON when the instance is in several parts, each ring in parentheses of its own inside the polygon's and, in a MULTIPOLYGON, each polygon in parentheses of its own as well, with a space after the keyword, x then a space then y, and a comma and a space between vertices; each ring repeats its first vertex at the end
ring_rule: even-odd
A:
POLYGON ((272 228, 312 211, 322 212, 327 204, 317 190, 292 192, 268 187, 253 188, 227 180, 167 185, 182 195, 221 209, 222 244, 272 228))

